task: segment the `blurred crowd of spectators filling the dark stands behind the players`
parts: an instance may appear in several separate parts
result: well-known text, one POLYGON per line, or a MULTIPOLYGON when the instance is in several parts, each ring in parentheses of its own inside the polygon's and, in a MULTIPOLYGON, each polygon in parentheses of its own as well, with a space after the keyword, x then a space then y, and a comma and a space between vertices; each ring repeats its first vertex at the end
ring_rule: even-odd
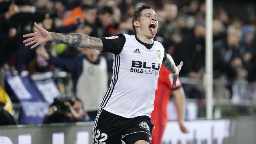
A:
MULTIPOLYGON (((106 77, 110 82, 112 54, 102 55, 52 42, 30 49, 22 43, 22 35, 36 32, 34 22, 59 33, 93 37, 119 33, 134 35, 131 14, 143 4, 152 6, 158 16, 155 40, 163 44, 176 64, 184 61, 180 76, 203 81, 206 5, 200 0, 0 0, 0 67, 18 74, 24 70, 34 74, 61 67, 72 74, 76 91, 81 72, 72 71, 72 63, 55 63, 54 58, 79 61, 77 57, 82 54, 91 63, 96 63, 100 55, 106 58, 109 74, 106 77)), ((220 4, 214 4, 213 12, 214 97, 256 100, 256 17, 242 20, 220 4)), ((205 98, 202 85, 184 87, 187 98, 205 98)), ((54 108, 50 108, 50 113, 54 108)))

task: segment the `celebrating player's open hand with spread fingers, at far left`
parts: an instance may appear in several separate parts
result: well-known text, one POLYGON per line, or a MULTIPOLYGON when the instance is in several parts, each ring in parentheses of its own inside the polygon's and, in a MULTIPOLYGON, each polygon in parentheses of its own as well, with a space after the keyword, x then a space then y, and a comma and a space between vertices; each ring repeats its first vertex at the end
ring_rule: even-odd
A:
POLYGON ((37 25, 36 22, 34 23, 34 25, 39 31, 23 35, 24 38, 31 37, 23 41, 23 43, 26 43, 25 46, 34 44, 30 47, 31 49, 52 39, 52 37, 48 34, 47 30, 37 25))

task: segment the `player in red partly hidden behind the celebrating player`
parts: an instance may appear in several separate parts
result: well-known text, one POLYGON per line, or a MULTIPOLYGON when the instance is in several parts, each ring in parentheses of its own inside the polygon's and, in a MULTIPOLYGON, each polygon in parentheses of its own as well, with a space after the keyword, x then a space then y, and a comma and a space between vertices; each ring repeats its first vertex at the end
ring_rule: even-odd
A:
POLYGON ((188 133, 184 126, 185 94, 181 82, 178 79, 176 87, 172 86, 173 75, 164 66, 161 66, 156 89, 156 98, 154 101, 154 110, 151 113, 152 123, 155 129, 152 131, 151 144, 161 144, 161 139, 167 123, 167 103, 170 100, 171 92, 175 97, 175 103, 178 113, 178 123, 183 133, 188 133))

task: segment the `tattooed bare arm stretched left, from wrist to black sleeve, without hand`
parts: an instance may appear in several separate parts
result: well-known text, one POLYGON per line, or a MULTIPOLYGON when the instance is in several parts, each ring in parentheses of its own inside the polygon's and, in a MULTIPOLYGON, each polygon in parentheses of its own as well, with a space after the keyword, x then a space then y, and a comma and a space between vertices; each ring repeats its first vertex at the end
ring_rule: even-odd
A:
POLYGON ((75 47, 87 47, 102 51, 103 44, 100 38, 90 37, 84 34, 73 33, 73 34, 61 34, 49 32, 53 42, 63 43, 75 47))

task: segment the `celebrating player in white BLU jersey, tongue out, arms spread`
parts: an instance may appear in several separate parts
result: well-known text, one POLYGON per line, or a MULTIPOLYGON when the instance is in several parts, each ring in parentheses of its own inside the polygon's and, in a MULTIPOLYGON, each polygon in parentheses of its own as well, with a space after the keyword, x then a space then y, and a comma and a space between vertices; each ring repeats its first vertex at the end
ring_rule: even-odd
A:
POLYGON ((181 62, 176 67, 162 44, 153 41, 158 26, 154 9, 145 5, 136 9, 132 26, 136 36, 118 34, 95 38, 48 32, 35 23, 39 31, 23 36, 31 37, 23 41, 25 46, 34 44, 31 48, 53 41, 113 53, 113 77, 94 123, 94 144, 150 144, 154 128, 150 114, 154 109, 159 69, 163 63, 173 73, 176 86, 183 65, 181 62))

